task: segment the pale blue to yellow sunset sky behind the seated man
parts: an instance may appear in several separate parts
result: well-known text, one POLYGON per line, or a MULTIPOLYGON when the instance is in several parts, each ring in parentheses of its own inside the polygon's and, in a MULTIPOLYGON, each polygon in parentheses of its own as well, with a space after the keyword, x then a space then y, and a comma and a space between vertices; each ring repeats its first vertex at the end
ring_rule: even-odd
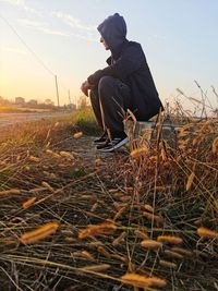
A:
POLYGON ((177 88, 199 98, 196 80, 216 106, 218 0, 0 0, 0 96, 57 104, 57 75, 60 104, 69 90, 75 102, 81 84, 107 65, 96 27, 116 12, 142 45, 164 102, 177 88))

